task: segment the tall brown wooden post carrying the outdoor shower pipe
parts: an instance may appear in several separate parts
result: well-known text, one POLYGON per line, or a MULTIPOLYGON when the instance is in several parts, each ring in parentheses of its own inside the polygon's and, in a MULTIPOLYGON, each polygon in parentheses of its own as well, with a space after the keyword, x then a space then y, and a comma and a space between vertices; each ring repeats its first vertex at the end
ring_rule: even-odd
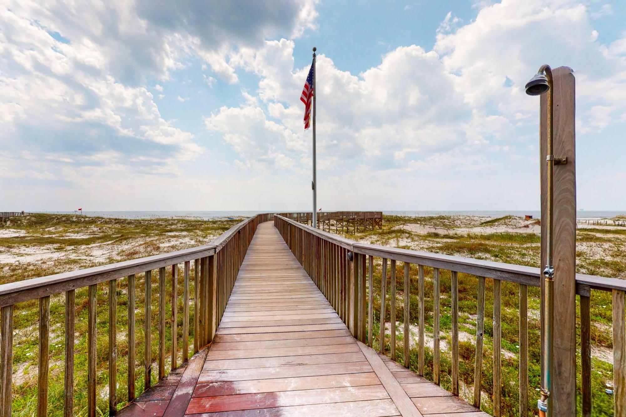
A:
MULTIPOLYGON (((552 239, 554 262, 552 326, 552 392, 548 399, 548 414, 573 416, 576 414, 576 171, 575 171, 575 80, 572 70, 559 67, 553 70, 553 155, 567 157, 567 163, 556 165, 553 173, 552 239)), ((541 266, 546 263, 548 206, 546 164, 546 106, 547 95, 541 96, 541 266)), ((544 294, 541 279, 541 293, 544 294)), ((545 297, 542 297, 542 306, 545 297)), ((542 307, 543 311, 543 307, 542 307)), ((546 317, 541 317, 545 336, 546 317)), ((543 346, 543 344, 542 344, 543 346)), ((542 352, 545 360, 545 352, 542 352)))

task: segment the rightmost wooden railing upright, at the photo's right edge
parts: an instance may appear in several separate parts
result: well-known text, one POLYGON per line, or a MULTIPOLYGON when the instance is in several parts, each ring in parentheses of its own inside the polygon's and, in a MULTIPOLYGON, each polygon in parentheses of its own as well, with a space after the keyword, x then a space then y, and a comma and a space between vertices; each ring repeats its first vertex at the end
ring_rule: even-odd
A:
POLYGON ((626 416, 626 291, 613 290, 613 414, 626 416))

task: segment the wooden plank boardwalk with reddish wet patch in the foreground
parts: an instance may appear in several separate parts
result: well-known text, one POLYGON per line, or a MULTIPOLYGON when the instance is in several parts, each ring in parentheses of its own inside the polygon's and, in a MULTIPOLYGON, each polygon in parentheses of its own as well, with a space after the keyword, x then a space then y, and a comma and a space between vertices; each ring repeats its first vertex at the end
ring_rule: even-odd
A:
POLYGON ((209 349, 122 416, 488 416, 354 339, 259 225, 209 349))

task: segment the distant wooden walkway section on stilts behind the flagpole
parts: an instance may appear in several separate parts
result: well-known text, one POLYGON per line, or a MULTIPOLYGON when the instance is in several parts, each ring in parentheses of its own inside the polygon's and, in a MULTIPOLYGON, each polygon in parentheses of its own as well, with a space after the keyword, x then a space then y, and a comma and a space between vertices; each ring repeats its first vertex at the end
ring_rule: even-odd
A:
MULTIPOLYGON (((313 225, 312 212, 279 213, 296 222, 313 225)), ((317 228, 335 233, 382 229, 382 212, 317 212, 317 228)))

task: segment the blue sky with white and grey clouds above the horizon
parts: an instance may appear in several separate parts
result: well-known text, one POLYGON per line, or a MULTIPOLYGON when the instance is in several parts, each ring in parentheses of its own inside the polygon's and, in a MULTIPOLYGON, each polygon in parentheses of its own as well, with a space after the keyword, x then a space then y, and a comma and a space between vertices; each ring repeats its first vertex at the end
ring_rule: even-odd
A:
MULTIPOLYGON (((626 210, 626 6, 9 1, 3 210, 538 207, 542 63, 577 78, 578 207, 626 210)), ((1 207, 0 207, 1 208, 1 207)))

